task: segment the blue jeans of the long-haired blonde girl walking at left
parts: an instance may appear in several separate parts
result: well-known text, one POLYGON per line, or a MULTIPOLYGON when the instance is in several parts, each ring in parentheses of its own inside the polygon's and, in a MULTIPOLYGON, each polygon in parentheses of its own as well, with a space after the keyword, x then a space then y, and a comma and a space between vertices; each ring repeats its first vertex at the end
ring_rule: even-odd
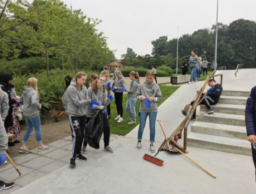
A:
POLYGON ((41 126, 40 126, 40 116, 33 117, 33 118, 26 118, 26 132, 23 136, 23 143, 26 143, 28 141, 28 138, 33 131, 33 128, 35 130, 35 138, 37 143, 42 142, 42 136, 41 136, 41 126))

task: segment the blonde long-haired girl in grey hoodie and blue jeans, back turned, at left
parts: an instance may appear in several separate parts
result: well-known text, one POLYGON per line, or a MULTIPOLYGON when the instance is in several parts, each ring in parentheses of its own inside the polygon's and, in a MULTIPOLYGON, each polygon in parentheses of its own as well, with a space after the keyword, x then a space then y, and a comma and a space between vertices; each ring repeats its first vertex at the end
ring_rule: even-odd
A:
POLYGON ((35 78, 29 78, 27 80, 27 86, 24 87, 24 92, 19 100, 24 104, 23 116, 26 119, 26 132, 23 136, 23 141, 21 147, 19 148, 19 153, 31 153, 31 151, 27 149, 26 143, 31 132, 33 131, 33 128, 35 130, 35 138, 38 143, 37 151, 49 149, 49 146, 42 144, 40 126, 41 123, 39 115, 39 110, 42 108, 42 106, 39 103, 40 95, 37 90, 37 80, 35 78))

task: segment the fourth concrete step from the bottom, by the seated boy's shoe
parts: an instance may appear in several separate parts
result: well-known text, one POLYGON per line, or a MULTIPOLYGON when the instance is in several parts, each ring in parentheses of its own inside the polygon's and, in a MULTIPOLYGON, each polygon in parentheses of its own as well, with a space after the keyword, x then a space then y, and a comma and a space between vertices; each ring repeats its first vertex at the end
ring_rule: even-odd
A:
MULTIPOLYGON (((237 104, 222 104, 217 103, 213 105, 214 112, 230 113, 230 114, 241 114, 245 115, 246 106, 237 104)), ((200 105, 200 111, 208 111, 205 105, 200 105)))

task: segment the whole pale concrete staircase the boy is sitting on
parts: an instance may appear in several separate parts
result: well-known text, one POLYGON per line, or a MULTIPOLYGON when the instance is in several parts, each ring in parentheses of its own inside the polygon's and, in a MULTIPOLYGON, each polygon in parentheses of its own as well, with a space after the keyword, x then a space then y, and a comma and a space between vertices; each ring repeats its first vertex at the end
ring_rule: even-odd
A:
POLYGON ((245 123, 249 95, 250 92, 224 90, 219 102, 213 106, 212 114, 208 114, 206 106, 201 105, 191 126, 187 145, 251 156, 245 123))

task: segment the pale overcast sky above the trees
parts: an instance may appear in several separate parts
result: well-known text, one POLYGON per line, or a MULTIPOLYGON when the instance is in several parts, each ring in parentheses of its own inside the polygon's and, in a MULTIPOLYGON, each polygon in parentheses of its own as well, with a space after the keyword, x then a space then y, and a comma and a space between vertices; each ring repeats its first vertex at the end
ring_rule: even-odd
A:
MULTIPOLYGON (((127 47, 138 55, 151 54, 152 40, 192 34, 216 23, 217 0, 62 0, 85 15, 102 20, 97 26, 108 37, 111 50, 121 58, 127 47)), ((256 21, 256 0, 219 0, 218 21, 256 21)), ((189 54, 189 53, 188 53, 189 54)))

